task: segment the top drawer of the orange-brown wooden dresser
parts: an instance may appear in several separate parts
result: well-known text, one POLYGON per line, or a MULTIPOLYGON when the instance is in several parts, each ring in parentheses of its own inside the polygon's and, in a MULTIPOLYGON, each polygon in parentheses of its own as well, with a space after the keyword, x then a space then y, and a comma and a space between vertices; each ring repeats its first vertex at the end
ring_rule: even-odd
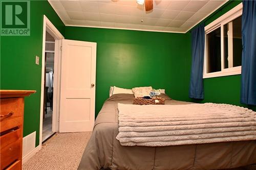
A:
POLYGON ((1 99, 1 132, 23 125, 24 98, 1 99))

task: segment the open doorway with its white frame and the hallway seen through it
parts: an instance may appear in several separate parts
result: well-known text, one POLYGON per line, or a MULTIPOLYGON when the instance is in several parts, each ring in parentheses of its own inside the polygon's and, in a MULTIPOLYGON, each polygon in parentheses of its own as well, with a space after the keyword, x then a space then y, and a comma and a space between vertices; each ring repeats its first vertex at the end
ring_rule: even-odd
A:
POLYGON ((61 44, 64 37, 44 15, 41 58, 39 149, 59 131, 61 44))

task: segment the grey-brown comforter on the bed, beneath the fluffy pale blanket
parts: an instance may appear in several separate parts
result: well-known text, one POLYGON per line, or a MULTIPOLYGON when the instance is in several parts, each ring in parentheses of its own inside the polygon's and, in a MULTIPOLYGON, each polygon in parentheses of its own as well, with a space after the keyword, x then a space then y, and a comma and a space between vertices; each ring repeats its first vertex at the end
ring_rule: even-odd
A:
MULTIPOLYGON (((161 94, 166 105, 186 105, 161 94)), ((256 163, 256 140, 125 147, 118 135, 118 103, 132 104, 133 94, 114 94, 105 101, 78 169, 222 169, 256 163)))

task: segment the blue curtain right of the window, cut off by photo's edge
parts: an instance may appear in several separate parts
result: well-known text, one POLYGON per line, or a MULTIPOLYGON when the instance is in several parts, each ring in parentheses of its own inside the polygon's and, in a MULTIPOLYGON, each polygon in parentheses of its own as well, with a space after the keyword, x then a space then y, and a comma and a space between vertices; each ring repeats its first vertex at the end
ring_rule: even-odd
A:
POLYGON ((256 1, 243 1, 241 103, 256 105, 256 1))

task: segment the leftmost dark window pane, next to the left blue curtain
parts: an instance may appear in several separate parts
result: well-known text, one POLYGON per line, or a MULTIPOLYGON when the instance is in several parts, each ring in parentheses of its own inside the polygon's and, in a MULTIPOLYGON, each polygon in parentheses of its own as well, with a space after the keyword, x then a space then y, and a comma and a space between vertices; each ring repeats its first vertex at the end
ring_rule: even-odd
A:
POLYGON ((207 42, 207 72, 221 71, 221 28, 206 36, 207 42))

